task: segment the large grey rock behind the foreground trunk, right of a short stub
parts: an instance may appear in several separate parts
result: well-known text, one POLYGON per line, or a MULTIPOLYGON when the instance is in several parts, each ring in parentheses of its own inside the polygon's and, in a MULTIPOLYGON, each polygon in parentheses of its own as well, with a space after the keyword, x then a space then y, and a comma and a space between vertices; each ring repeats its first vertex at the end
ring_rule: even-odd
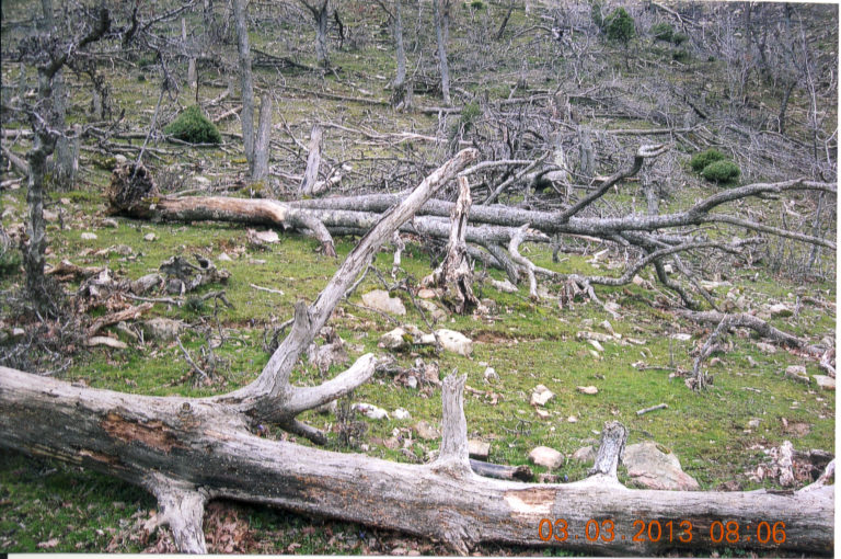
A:
POLYGON ((631 479, 648 489, 696 491, 700 488, 698 481, 681 469, 678 457, 661 452, 653 441, 627 446, 623 463, 631 479))

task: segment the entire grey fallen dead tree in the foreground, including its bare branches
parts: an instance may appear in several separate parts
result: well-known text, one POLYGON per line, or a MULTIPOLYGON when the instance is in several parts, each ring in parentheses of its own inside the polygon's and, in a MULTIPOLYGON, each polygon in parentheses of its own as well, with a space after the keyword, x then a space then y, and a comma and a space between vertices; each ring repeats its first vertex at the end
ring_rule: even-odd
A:
POLYGON ((595 555, 706 549, 725 523, 738 523, 747 531, 741 534, 751 535, 740 538, 739 547, 831 554, 834 497, 826 477, 786 494, 629 490, 617 479, 627 435, 618 423, 606 425, 596 466, 583 481, 531 484, 476 476, 468 459, 464 377, 451 375, 443 383, 442 442, 428 465, 253 434, 256 424, 274 422, 323 442, 296 417, 365 383, 376 357, 362 355, 314 387, 292 386, 292 367, 378 248, 475 157, 474 150, 461 151, 382 216, 318 299, 296 305, 290 333, 250 385, 209 398, 148 397, 0 368, 0 446, 146 488, 184 552, 206 552, 205 504, 235 499, 431 537, 462 555, 482 541, 595 555), (655 526, 675 532, 655 538, 655 526))

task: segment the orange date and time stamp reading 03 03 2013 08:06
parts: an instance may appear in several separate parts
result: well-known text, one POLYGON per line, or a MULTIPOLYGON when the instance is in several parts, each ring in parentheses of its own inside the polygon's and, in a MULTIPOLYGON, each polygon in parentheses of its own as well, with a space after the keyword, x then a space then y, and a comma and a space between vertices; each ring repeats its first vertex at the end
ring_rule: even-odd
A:
POLYGON ((716 521, 706 531, 696 531, 690 521, 642 521, 633 522, 632 529, 622 534, 611 520, 589 520, 580 531, 569 526, 564 518, 543 518, 538 525, 538 537, 543 541, 569 541, 580 540, 613 541, 617 538, 631 541, 679 541, 689 544, 695 537, 706 539, 713 545, 760 544, 779 546, 785 543, 785 523, 759 521, 756 523, 739 524, 736 521, 716 521), (577 533, 580 532, 580 533, 577 533))

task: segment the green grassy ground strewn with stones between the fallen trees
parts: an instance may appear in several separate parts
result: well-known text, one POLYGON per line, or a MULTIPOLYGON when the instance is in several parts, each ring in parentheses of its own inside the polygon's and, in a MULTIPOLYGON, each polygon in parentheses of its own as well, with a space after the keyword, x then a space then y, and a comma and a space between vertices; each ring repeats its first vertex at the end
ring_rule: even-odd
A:
MULTIPOLYGON (((354 4, 356 7, 356 4, 354 4)), ((491 4, 497 10, 502 5, 491 4)), ((337 75, 315 78, 307 73, 275 75, 268 70, 258 73, 258 82, 277 88, 280 101, 274 119, 277 141, 283 147, 278 156, 284 164, 292 166, 290 173, 302 172, 306 152, 297 146, 297 138, 306 144, 309 128, 315 121, 342 123, 359 129, 379 132, 413 130, 439 135, 448 124, 439 123, 435 114, 395 114, 387 106, 324 99, 313 93, 330 91, 346 96, 377 95, 391 76, 392 60, 383 54, 381 44, 388 35, 379 37, 365 7, 348 16, 348 25, 359 44, 333 53, 337 75), (358 19, 358 20, 357 20, 358 19), (362 22, 362 23, 356 23, 362 22), (356 27, 354 27, 356 25, 356 27), (339 76, 339 78, 336 78, 339 76), (283 136, 283 137, 281 137, 283 136)), ((458 4, 457 10, 461 10, 458 4)), ((488 8, 489 9, 489 8, 488 8)), ((464 9, 459 18, 468 20, 464 9)), ((473 14, 484 18, 485 14, 473 14)), ((510 25, 525 27, 533 14, 515 11, 510 25)), ((453 32, 457 36, 466 33, 453 32)), ((466 38, 464 38, 466 41, 466 38)), ((272 41, 265 30, 254 33, 255 48, 281 55, 284 45, 272 41)), ((463 44, 463 43, 462 43, 463 44)), ((286 45, 288 46, 288 45, 286 45)), ((295 45, 293 45, 295 46, 295 45)), ((297 45, 296 48, 303 48, 297 45)), ((613 71, 620 71, 622 57, 612 53, 618 61, 613 71)), ((656 49, 646 56, 657 57, 656 49), (652 54, 654 53, 654 54, 652 54)), ((671 56, 669 52, 663 57, 671 56)), ((457 52, 456 60, 466 55, 457 52)), ((314 66, 314 60, 300 58, 314 66)), ((453 75, 459 77, 459 62, 453 75)), ((512 65, 509 65, 512 66, 512 65)), ((699 60, 695 71, 714 71, 714 62, 699 60), (701 68, 703 67, 703 68, 701 68), (700 69, 701 68, 701 69, 700 69)), ((113 99, 118 110, 125 110, 130 127, 146 130, 154 111, 159 83, 152 67, 142 64, 119 70, 113 81, 113 99)), ((643 70, 637 69, 642 72, 643 70)), ((3 80, 15 76, 16 68, 3 68, 3 80)), ((473 91, 488 91, 493 98, 505 98, 508 82, 519 70, 500 65, 496 73, 486 71, 481 80, 468 83, 473 91)), ((682 75, 688 81, 694 75, 682 75)), ((538 77, 542 78, 542 77, 538 77)), ((76 78, 73 78, 74 80, 76 78)), ((226 84, 221 78, 207 78, 211 84, 203 87, 203 100, 220 95, 226 84)), ((714 80, 711 80, 714 81, 714 80)), ((465 87, 468 87, 465 85, 465 87)), ((556 82, 542 80, 534 89, 553 89, 556 82)), ((527 93, 518 93, 527 94, 527 93)), ((88 102, 81 84, 73 87, 77 109, 69 119, 83 122, 88 102)), ((182 90, 177 102, 168 102, 164 110, 175 114, 177 105, 191 104, 195 92, 182 90)), ((385 95, 382 95, 384 99, 385 95)), ((230 106, 235 103, 231 102, 230 106)), ((434 94, 416 95, 419 105, 434 106, 434 94)), ((796 105, 796 103, 793 103, 796 105)), ((221 112, 221 107, 215 109, 221 112)), ((604 127, 654 127, 656 123, 627 119, 592 121, 604 127)), ((238 133, 239 123, 226 121, 223 132, 238 133)), ((395 158, 401 153, 420 150, 430 158, 440 155, 440 147, 401 146, 398 149, 377 142, 368 146, 348 142, 348 133, 329 129, 325 152, 336 161, 354 167, 342 189, 371 190, 371 185, 385 174, 385 169, 371 161, 379 157, 395 158), (390 151, 389 151, 390 150, 390 151), (368 161, 366 163, 365 161, 368 161), (366 166, 370 167, 366 167, 366 166)), ((358 139, 358 138, 357 138, 358 139)), ((629 145, 638 138, 629 138, 629 145)), ((139 146, 142 140, 125 142, 139 146)), ((107 267, 120 278, 137 280, 157 272, 163 261, 173 255, 192 258, 200 254, 230 272, 224 285, 209 285, 194 296, 224 289, 232 307, 216 306, 212 300, 197 298, 184 306, 155 304, 143 319, 165 317, 182 320, 187 328, 180 334, 184 349, 205 366, 212 365, 208 379, 198 376, 184 358, 178 341, 146 339, 138 341, 116 328, 110 335, 120 340, 125 349, 89 347, 79 351, 72 364, 59 374, 60 378, 84 383, 91 387, 149 395, 207 396, 241 387, 255 378, 267 362, 266 332, 291 318, 295 301, 312 301, 336 270, 339 260, 354 246, 353 238, 337 238, 334 260, 316 251, 318 243, 299 235, 283 233, 279 242, 255 246, 245 227, 226 224, 196 223, 155 224, 106 215, 105 187, 110 181, 114 160, 93 149, 82 151, 82 170, 77 186, 67 192, 50 193, 48 210, 48 263, 70 260, 81 266, 107 267), (85 233, 94 233, 95 238, 85 233), (226 256, 222 256, 222 255, 226 256), (220 256, 222 256, 220 259, 220 256), (260 287, 274 289, 268 292, 260 287), (214 361, 207 358, 214 355, 214 361)), ((178 192, 206 187, 209 180, 215 191, 227 192, 237 187, 244 170, 239 141, 226 137, 223 149, 189 148, 152 142, 150 166, 164 192, 178 192), (198 179, 197 179, 198 178, 198 179), (204 178, 204 179, 201 179, 204 178)), ((22 152, 22 151, 21 151, 22 152)), ((127 152, 129 158, 136 151, 127 152)), ((416 153, 413 153, 416 156, 416 153)), ((419 159, 423 159, 420 157, 419 159)), ((680 172, 683 187, 671 191, 663 201, 663 210, 686 207, 701 195, 708 195, 715 186, 704 185, 689 178, 689 155, 678 152, 672 158, 676 172, 680 172)), ((277 161, 273 161, 277 162, 277 161)), ((611 164, 624 164, 615 159, 602 162, 603 171, 612 172, 611 164)), ((423 176, 423 167, 414 179, 423 176)), ((753 176, 752 179, 761 179, 753 176)), ((275 184, 246 185, 233 195, 290 196, 293 182, 280 178, 275 184)), ((621 187, 612 199, 617 206, 644 208, 645 198, 634 183, 621 187)), ((526 194, 527 196, 529 194, 526 194)), ((752 209, 772 204, 751 201, 752 209)), ((796 204, 796 202, 795 202, 796 204)), ((2 226, 7 231, 22 227, 25 220, 25 183, 0 191, 2 226)), ((742 207, 742 210, 745 209, 742 207)), ((770 206, 768 206, 770 207, 770 206)), ((796 206, 795 206, 796 207, 796 206)), ((260 229, 260 228, 258 228, 260 229)), ((417 240, 417 239, 415 239, 417 240)), ((422 240, 420 240, 422 241, 422 240)), ((530 259, 538 265, 562 273, 621 273, 624 260, 619 253, 601 253, 601 247, 589 247, 583 254, 561 254, 561 262, 552 261, 545 244, 523 244, 530 259)), ((403 254, 402 269, 396 281, 391 275, 391 253, 382 251, 375 261, 378 273, 369 272, 355 293, 339 305, 330 326, 344 340, 347 355, 353 362, 367 352, 387 354, 379 346, 382 334, 398 323, 414 324, 429 331, 426 320, 414 304, 414 297, 402 288, 393 288, 407 309, 401 317, 385 317, 361 304, 360 296, 371 289, 394 287, 398 283, 416 287, 431 267, 433 256, 423 242, 408 243, 403 254), (400 282, 398 282, 400 281, 400 282)), ((797 281, 781 271, 773 272, 762 263, 739 269, 718 270, 705 280, 714 282, 712 292, 722 300, 738 300, 744 310, 767 312, 773 304, 796 309, 790 317, 774 317, 770 322, 779 329, 804 336, 814 343, 823 338, 834 340, 836 285, 834 256, 830 261, 832 273, 825 278, 797 281), (826 301, 827 306, 804 304, 805 296, 826 301)), ((488 270, 487 275, 503 280, 505 274, 488 270)), ((489 308, 486 313, 468 316, 447 315, 436 328, 459 331, 473 340, 472 355, 466 357, 449 352, 437 352, 431 346, 410 346, 393 352, 395 364, 390 370, 378 372, 368 384, 339 402, 338 414, 309 413, 301 419, 329 433, 329 448, 344 453, 366 453, 395 461, 427 461, 439 445, 436 438, 424 438, 418 423, 435 426, 440 421, 440 389, 436 381, 453 369, 468 375, 464 412, 471 438, 489 443, 489 460, 507 465, 530 465, 535 475, 545 468, 529 463, 529 452, 540 445, 553 447, 567 458, 552 471, 564 481, 581 479, 588 465, 572 460, 578 448, 596 444, 606 421, 622 422, 630 432, 629 444, 655 441, 675 453, 683 470, 698 480, 702 490, 780 489, 772 477, 757 476, 760 467, 771 461, 769 452, 784 441, 791 441, 797 450, 821 449, 834 454, 836 402, 834 392, 822 391, 815 384, 802 384, 787 378, 788 366, 803 365, 809 376, 823 374, 817 362, 795 352, 777 349, 763 352, 758 340, 750 335, 728 339, 727 351, 714 354, 707 362, 714 384, 695 392, 684 384, 692 369, 694 354, 711 333, 694 322, 671 312, 668 305, 675 300, 657 285, 649 270, 641 273, 643 285, 625 287, 598 286, 602 301, 611 305, 613 316, 591 301, 558 305, 561 286, 548 283, 541 288, 543 297, 533 301, 528 287, 506 294, 488 282, 477 285, 480 298, 489 308), (653 287, 649 287, 652 286, 653 287), (619 336, 602 342, 603 351, 577 335, 579 332, 610 333, 619 336), (420 363, 423 362, 423 363, 420 363), (488 367, 498 375, 487 380, 488 367), (408 380, 414 369, 419 377, 416 386, 408 380), (430 372, 431 373, 428 373, 430 372), (427 372, 427 376, 424 376, 427 372), (538 414, 530 406, 530 397, 538 385, 544 385, 555 397, 538 414), (596 395, 583 393, 578 387, 595 386, 596 395), (367 402, 387 410, 389 419, 373 420, 347 408, 350 403, 367 402), (638 415, 641 409, 665 403, 666 409, 638 415), (403 409, 408 419, 394 419, 394 410, 403 409)), ((20 270, 7 270, 0 276, 0 290, 12 293, 23 282, 20 270)), ((79 288, 79 282, 64 284, 69 293, 79 288)), ((12 333, 13 324, 7 319, 10 303, 0 303, 3 322, 0 328, 12 333)), ((99 309, 94 313, 104 313, 99 309)), ((315 384, 344 369, 333 364, 325 372, 307 363, 296 370, 293 380, 301 385, 315 384)), ((289 435, 268 426, 265 436, 289 435)), ((307 441, 298 441, 309 444, 307 441)), ((620 480, 633 484, 623 468, 620 480)), ((797 486, 809 479, 797 479, 797 486)), ((58 461, 32 459, 16 454, 0 455, 0 549, 4 551, 62 551, 62 552, 133 552, 140 550, 172 550, 165 537, 149 537, 141 525, 153 515, 154 500, 141 489, 58 461)), ((535 528, 537 529, 537 528, 535 528)), ((433 541, 371 529, 358 525, 311 518, 285 511, 273 511, 238 503, 214 503, 205 520, 208 548, 211 552, 253 554, 314 554, 314 555, 448 555, 449 550, 433 541)), ((542 550, 484 546, 482 555, 540 555, 542 550)), ((722 555, 741 556, 744 551, 719 548, 722 555)), ((554 552, 553 552, 554 555, 554 552)))

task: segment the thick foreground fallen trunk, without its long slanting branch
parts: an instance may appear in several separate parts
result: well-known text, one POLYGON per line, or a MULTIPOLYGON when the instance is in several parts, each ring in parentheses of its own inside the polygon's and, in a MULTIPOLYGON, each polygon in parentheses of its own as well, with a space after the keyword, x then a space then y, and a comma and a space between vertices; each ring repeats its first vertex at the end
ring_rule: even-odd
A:
MULTIPOLYGON (((242 414, 214 399, 124 395, 8 368, 0 368, 0 409, 5 448, 152 491, 182 551, 206 551, 201 510, 222 498, 427 536, 459 552, 480 541, 594 555, 708 549, 718 522, 739 525, 739 539, 728 547, 832 551, 832 486, 774 494, 629 490, 609 474, 568 484, 500 481, 471 474, 469 465, 441 468, 440 459, 396 464, 261 438, 242 414), (761 544, 757 536, 770 538, 772 529, 758 528, 762 522, 777 526, 779 544, 761 544), (654 523, 663 536, 648 529, 654 523)), ((445 424, 458 419, 445 418, 445 424)))

